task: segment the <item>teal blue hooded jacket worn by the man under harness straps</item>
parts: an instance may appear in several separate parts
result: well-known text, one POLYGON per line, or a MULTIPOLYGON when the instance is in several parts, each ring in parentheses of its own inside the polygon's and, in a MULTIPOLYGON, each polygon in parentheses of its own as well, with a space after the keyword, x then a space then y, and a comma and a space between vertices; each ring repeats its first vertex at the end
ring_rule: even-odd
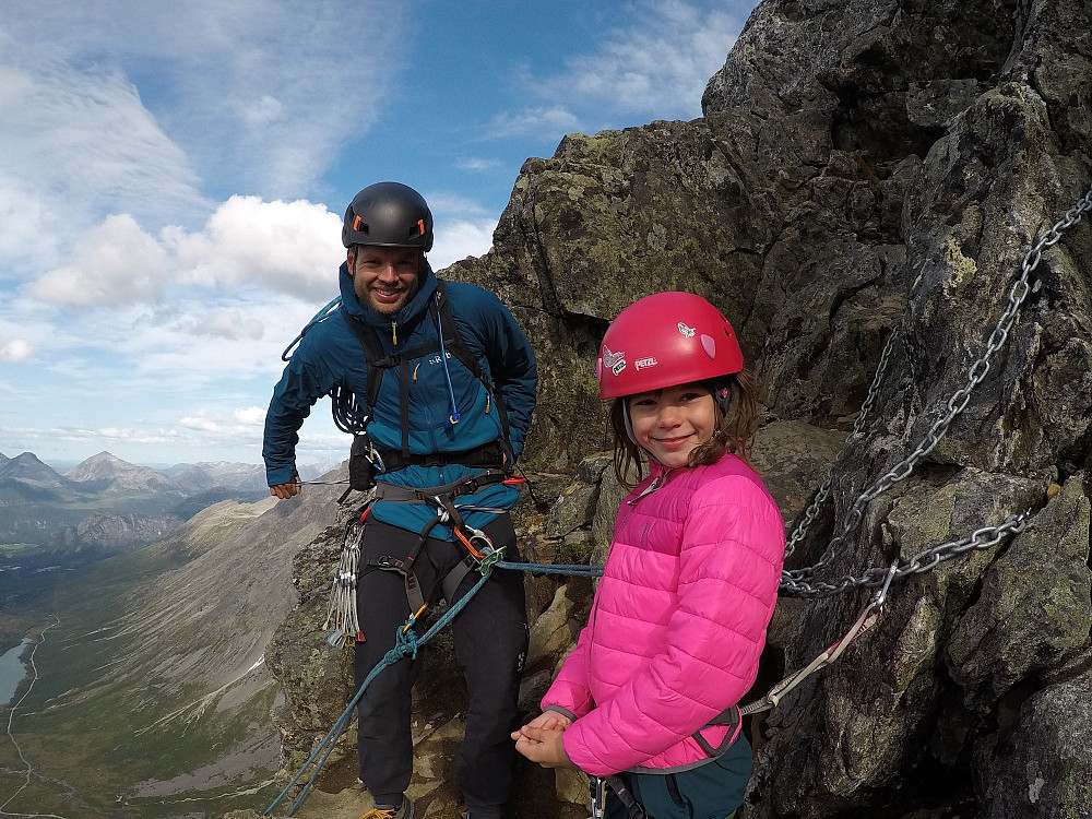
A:
MULTIPOLYGON (((262 448, 270 486, 293 480, 299 428, 320 397, 341 385, 352 391, 361 407, 367 406, 368 368, 364 347, 343 313, 375 328, 387 353, 412 351, 436 341, 438 331, 428 314, 428 304, 435 297, 437 280, 431 268, 427 264, 425 268, 413 299, 395 314, 382 316, 357 298, 348 269, 342 264, 341 309, 307 329, 273 391, 262 448)), ((446 284, 459 335, 489 376, 508 411, 509 439, 518 455, 523 450, 535 406, 538 372, 534 352, 511 312, 492 293, 472 284, 446 284)), ((451 340, 444 341, 450 344, 451 340)), ((439 355, 411 363, 407 406, 410 451, 414 454, 460 452, 502 437, 497 402, 453 355, 447 356, 447 364, 446 373, 439 355), (452 400, 459 407, 458 424, 450 422, 452 400)), ((402 447, 401 391, 399 368, 387 370, 373 418, 368 425, 368 436, 378 447, 394 450, 402 447)), ((458 464, 406 466, 379 478, 403 486, 429 487, 478 472, 480 470, 458 464)), ((459 498, 458 506, 510 509, 518 500, 514 487, 494 484, 475 495, 459 498)), ((371 514, 385 523, 418 532, 436 515, 436 510, 427 506, 380 502, 372 507, 371 514)), ((479 512, 465 515, 465 520, 480 527, 495 517, 495 513, 479 512)), ((437 526, 431 534, 451 538, 451 531, 446 526, 437 526)))

